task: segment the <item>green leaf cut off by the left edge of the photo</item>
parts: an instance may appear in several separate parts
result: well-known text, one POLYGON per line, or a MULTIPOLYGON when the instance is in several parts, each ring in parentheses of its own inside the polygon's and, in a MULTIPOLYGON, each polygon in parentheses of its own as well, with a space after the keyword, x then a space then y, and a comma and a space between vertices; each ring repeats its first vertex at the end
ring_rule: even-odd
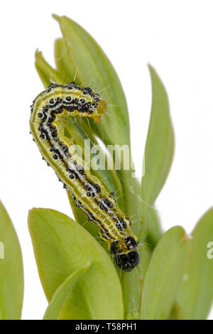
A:
POLYGON ((0 201, 0 319, 21 318, 23 262, 16 231, 0 201))

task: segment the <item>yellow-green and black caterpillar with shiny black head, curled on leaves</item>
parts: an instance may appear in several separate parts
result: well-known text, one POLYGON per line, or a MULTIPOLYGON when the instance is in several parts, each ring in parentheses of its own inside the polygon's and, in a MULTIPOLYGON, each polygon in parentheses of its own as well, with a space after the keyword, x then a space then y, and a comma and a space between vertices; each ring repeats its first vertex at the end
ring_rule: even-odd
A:
POLYGON ((64 134, 68 116, 92 117, 99 122, 106 109, 106 102, 90 87, 80 87, 75 82, 51 83, 31 105, 31 134, 45 161, 70 191, 75 205, 97 225, 116 266, 131 271, 140 261, 131 222, 99 179, 72 155, 69 150, 72 140, 64 134))

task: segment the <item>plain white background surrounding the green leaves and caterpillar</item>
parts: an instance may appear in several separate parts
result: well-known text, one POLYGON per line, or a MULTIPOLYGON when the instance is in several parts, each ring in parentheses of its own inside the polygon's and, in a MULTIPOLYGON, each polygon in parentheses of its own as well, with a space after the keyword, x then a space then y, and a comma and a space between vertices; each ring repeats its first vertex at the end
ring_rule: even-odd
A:
POLYGON ((23 252, 23 319, 42 318, 47 306, 28 234, 28 210, 54 208, 71 215, 65 190, 41 160, 28 126, 29 106, 43 90, 35 49, 54 65, 53 41, 61 36, 51 14, 80 23, 116 68, 129 104, 140 177, 151 109, 147 63, 157 70, 170 99, 175 158, 156 205, 165 230, 180 224, 190 232, 213 204, 212 7, 204 0, 1 1, 0 197, 23 252))

